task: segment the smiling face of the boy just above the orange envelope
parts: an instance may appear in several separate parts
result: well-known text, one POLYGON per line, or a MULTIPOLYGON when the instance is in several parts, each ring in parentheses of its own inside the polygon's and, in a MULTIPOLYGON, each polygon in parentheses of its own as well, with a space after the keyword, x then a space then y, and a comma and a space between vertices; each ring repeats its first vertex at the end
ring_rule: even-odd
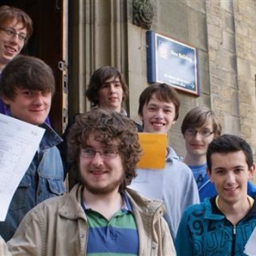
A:
POLYGON ((144 133, 168 133, 175 123, 176 107, 173 102, 159 101, 155 95, 145 104, 141 119, 144 133))

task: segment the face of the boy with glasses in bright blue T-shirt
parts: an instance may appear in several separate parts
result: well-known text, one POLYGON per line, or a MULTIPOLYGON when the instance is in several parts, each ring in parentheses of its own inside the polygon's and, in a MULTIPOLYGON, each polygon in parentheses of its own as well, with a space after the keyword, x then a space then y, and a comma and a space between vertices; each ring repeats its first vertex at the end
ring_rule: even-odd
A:
POLYGON ((201 127, 189 128, 187 131, 191 130, 197 131, 196 134, 192 135, 191 133, 185 133, 184 139, 186 143, 187 154, 191 156, 206 156, 208 150, 208 144, 212 142, 215 134, 213 132, 212 122, 209 121, 201 127), (206 134, 209 134, 206 136, 206 134))

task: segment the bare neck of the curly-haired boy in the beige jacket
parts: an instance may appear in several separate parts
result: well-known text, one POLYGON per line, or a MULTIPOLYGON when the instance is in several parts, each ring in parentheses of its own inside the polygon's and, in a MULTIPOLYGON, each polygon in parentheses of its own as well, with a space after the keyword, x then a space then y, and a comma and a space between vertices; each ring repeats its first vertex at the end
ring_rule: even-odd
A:
POLYGON ((91 208, 104 216, 112 219, 112 216, 123 207, 123 197, 118 189, 107 194, 93 194, 84 187, 82 198, 86 208, 91 208))

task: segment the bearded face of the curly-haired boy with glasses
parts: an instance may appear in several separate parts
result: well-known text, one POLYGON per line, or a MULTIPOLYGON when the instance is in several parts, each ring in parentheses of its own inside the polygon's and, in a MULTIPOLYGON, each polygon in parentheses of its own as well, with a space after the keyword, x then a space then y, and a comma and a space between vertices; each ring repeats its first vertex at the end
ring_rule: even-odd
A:
MULTIPOLYGON (((86 149, 82 150, 113 150, 117 152, 117 143, 113 147, 106 146, 94 139, 91 133, 87 141, 86 149)), ((91 194, 112 194, 117 193, 124 179, 124 169, 121 155, 118 153, 111 158, 104 158, 97 152, 94 156, 86 157, 80 153, 80 177, 81 182, 91 194)))

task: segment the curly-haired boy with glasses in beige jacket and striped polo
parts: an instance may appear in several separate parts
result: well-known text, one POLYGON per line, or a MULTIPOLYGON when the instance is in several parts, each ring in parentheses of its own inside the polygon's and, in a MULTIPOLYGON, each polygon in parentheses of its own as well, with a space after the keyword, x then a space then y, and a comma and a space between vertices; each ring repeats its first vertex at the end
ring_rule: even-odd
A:
MULTIPOLYGON (((28 256, 176 255, 163 201, 127 188, 141 155, 133 121, 100 108, 80 114, 68 143, 80 183, 32 209, 8 250, 28 256)), ((3 246, 0 240, 0 251, 3 246)))

